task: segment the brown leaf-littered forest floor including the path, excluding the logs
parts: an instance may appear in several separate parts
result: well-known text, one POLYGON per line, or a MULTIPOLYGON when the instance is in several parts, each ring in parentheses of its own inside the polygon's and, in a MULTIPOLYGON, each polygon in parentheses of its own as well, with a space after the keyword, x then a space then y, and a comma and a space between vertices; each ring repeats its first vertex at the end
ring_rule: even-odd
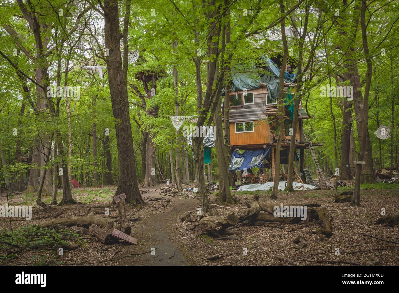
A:
MULTIPOLYGON (((136 246, 125 243, 105 245, 94 238, 79 236, 69 242, 81 243, 78 249, 65 250, 63 255, 57 255, 54 250, 45 247, 21 249, 0 244, 0 265, 309 265, 316 262, 326 265, 332 264, 330 261, 399 265, 399 228, 375 224, 381 216, 381 208, 385 208, 387 215, 396 214, 399 210, 398 186, 364 185, 360 207, 351 207, 349 203, 333 203, 333 189, 280 192, 279 199, 274 201, 270 199, 269 192, 233 192, 233 197, 239 203, 226 207, 213 206, 214 215, 223 216, 242 212, 246 208, 243 201, 253 195, 259 195, 263 201, 282 202, 284 205, 318 203, 328 208, 334 217, 334 235, 324 240, 311 234, 318 227, 316 223, 302 227, 300 224, 271 226, 270 223, 257 222, 251 225, 245 222, 239 227, 241 234, 227 236, 228 239, 202 235, 198 228, 190 230, 194 223, 180 221, 184 212, 200 206, 199 199, 176 196, 170 197, 170 204, 166 207, 160 207, 156 202, 149 202, 142 208, 126 205, 128 217, 140 217, 133 222, 131 232, 131 236, 138 240, 136 246), (293 243, 298 236, 305 238, 307 246, 298 248, 293 243), (223 257, 207 260, 215 254, 222 254, 223 257)), ((146 200, 148 196, 159 197, 159 188, 155 191, 156 188, 147 189, 148 193, 142 195, 143 199, 146 200)), ((340 188, 339 192, 345 190, 350 190, 350 187, 340 188)), ((51 233, 37 236, 39 233, 30 228, 34 227, 32 225, 41 224, 53 217, 85 216, 89 207, 91 212, 104 212, 105 208, 109 208, 108 217, 117 220, 117 205, 109 205, 115 191, 116 186, 85 190, 75 188, 73 196, 81 204, 53 206, 49 211, 36 206, 34 195, 13 195, 8 204, 32 205, 33 215, 32 220, 11 218, 14 231, 12 242, 18 243, 20 247, 24 244, 26 248, 33 244, 45 246, 45 243, 51 243, 54 236, 51 233), (23 235, 31 238, 28 241, 22 240, 23 235)), ((210 200, 214 201, 215 197, 216 193, 212 193, 210 200)), ((44 199, 47 203, 49 200, 49 197, 44 199)), ((5 206, 6 203, 6 198, 0 197, 0 205, 5 206)), ((10 242, 10 218, 0 218, 1 241, 10 242)))

